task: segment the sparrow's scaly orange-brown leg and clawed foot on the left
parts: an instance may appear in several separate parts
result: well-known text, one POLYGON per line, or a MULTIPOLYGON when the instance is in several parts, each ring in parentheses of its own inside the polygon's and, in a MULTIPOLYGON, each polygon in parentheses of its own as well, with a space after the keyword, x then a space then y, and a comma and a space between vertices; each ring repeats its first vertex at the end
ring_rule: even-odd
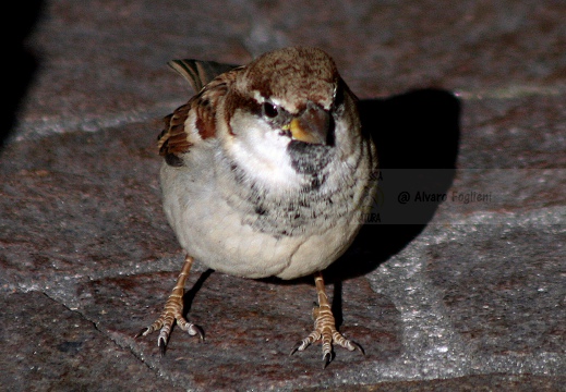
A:
POLYGON ((186 277, 189 277, 189 271, 191 270, 192 266, 193 258, 191 256, 186 256, 183 268, 181 269, 181 273, 179 273, 179 278, 177 278, 177 283, 174 284, 171 295, 169 295, 169 298, 165 303, 164 311, 153 324, 144 328, 135 335, 135 338, 142 335, 146 336, 149 333, 159 330, 157 346, 160 348, 161 356, 165 355, 165 347, 167 346, 167 342, 169 340, 169 333, 171 332, 171 328, 176 320, 179 328, 189 332, 191 336, 198 334, 201 340, 204 340, 204 332, 202 328, 186 321, 183 317, 184 283, 186 282, 186 277))

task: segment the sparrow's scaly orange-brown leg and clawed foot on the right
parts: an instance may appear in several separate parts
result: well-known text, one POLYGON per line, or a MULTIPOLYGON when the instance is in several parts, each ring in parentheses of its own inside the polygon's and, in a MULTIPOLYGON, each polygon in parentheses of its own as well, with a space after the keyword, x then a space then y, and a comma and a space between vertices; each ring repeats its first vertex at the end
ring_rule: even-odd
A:
POLYGON ((349 351, 359 350, 362 354, 363 348, 356 342, 344 338, 344 335, 336 329, 336 320, 334 319, 330 304, 324 289, 324 279, 322 272, 316 272, 314 275, 314 283, 316 284, 316 294, 318 296, 318 306, 313 309, 314 331, 309 336, 298 342, 290 355, 297 351, 303 351, 312 343, 321 340, 323 344, 323 368, 333 359, 333 343, 336 343, 349 351))

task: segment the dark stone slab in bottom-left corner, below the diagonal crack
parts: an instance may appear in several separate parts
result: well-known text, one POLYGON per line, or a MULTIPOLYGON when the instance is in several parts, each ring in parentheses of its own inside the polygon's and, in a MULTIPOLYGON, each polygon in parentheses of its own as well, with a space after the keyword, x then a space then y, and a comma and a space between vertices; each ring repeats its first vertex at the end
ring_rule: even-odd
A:
POLYGON ((47 295, 2 293, 0 301, 0 366, 7 391, 171 388, 133 353, 99 332, 92 321, 47 295))

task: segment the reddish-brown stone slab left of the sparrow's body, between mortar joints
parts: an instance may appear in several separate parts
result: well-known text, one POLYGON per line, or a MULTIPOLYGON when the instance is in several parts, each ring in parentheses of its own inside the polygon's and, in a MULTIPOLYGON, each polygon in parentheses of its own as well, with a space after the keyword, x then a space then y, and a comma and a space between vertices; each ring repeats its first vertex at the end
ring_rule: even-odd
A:
POLYGON ((177 252, 159 206, 152 131, 132 124, 5 149, 0 203, 8 252, 0 260, 14 273, 4 274, 9 281, 22 284, 26 275, 43 285, 59 277, 97 277, 109 267, 132 272, 142 260, 177 252))

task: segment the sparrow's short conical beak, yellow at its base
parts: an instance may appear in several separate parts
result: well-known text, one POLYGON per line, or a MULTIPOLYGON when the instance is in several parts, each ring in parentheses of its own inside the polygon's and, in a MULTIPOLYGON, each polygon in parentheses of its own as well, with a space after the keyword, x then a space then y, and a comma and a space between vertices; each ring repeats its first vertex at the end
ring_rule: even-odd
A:
POLYGON ((316 105, 309 105, 288 126, 293 139, 325 145, 328 139, 330 114, 316 105))

